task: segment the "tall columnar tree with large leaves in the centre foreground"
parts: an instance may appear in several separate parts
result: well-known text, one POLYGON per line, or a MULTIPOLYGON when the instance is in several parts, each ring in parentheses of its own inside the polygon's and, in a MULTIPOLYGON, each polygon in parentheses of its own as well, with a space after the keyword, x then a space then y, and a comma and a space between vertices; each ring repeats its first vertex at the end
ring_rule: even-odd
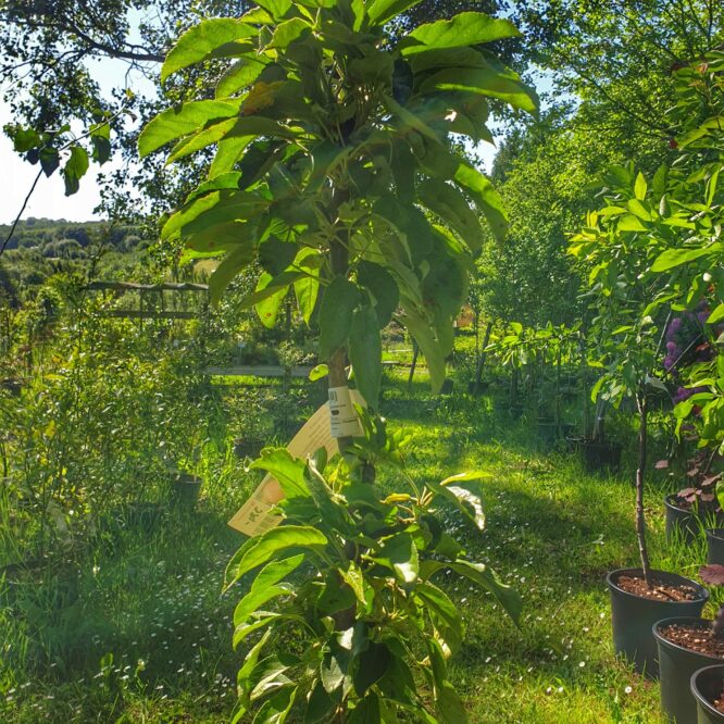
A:
MULTIPOLYGON (((537 105, 480 49, 517 35, 510 22, 463 13, 390 36, 388 23, 412 4, 264 0, 240 18, 204 21, 170 51, 162 78, 219 62, 215 98, 164 111, 139 139, 142 153, 175 141, 172 161, 216 145, 208 180, 162 237, 180 241, 187 257, 223 254, 210 278, 213 300, 258 261, 262 274, 242 303, 265 324, 294 294, 303 320, 317 317, 329 397, 346 414, 348 359, 369 409, 378 407, 379 335, 392 317, 420 346, 433 386, 442 385, 452 321, 484 238, 471 203, 497 238, 507 226, 490 182, 453 151, 450 134, 490 139, 490 99, 529 112, 537 105)), ((440 564, 461 575, 471 569, 452 567, 459 549, 427 501, 432 492, 469 513, 472 505, 479 523, 479 498, 465 476, 426 483, 427 492, 412 482, 384 497, 371 463, 398 458, 398 446, 384 422, 357 412, 365 436, 352 440, 354 415, 335 429, 342 459, 332 473, 324 455, 295 461, 276 450, 258 463, 285 497, 282 525, 250 538, 229 565, 229 581, 264 566, 235 615, 237 641, 264 629, 239 671, 237 721, 252 709, 278 722, 377 722, 399 710, 432 721, 412 669, 427 677, 437 715, 465 721, 446 674, 459 614, 429 578, 440 564), (302 561, 319 576, 285 581, 302 561), (277 597, 290 608, 272 621, 259 607, 277 597), (392 631, 390 601, 405 609, 408 634, 427 637, 422 664, 409 656, 407 634, 392 631), (413 610, 424 615, 413 621, 413 610), (289 650, 277 621, 296 625, 303 645, 289 650), (313 635, 304 621, 316 622, 313 635)), ((509 589, 475 570, 476 583, 515 614, 509 589)))

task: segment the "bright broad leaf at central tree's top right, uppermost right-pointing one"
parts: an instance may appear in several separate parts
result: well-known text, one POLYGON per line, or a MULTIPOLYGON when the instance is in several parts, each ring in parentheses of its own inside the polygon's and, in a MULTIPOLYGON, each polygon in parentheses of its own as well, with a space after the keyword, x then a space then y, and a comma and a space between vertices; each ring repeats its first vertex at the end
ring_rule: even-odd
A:
POLYGON ((398 45, 402 55, 419 53, 428 48, 463 48, 482 42, 520 36, 508 20, 485 13, 459 13, 452 20, 420 25, 398 45))

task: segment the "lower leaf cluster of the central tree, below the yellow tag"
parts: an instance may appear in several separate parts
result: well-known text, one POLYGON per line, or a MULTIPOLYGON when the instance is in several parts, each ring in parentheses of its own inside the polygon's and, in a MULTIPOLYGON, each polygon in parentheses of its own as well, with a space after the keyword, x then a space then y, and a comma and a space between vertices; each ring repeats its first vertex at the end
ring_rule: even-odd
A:
POLYGON ((471 482, 484 474, 421 485, 404 467, 410 437, 389 435, 382 421, 363 422, 365 438, 336 464, 326 465, 323 450, 304 462, 275 448, 253 463, 279 480, 284 520, 249 539, 227 569, 227 586, 257 571, 234 615, 234 644, 248 647, 235 721, 273 712, 278 722, 386 722, 401 710, 460 724, 467 716, 447 660, 460 649, 463 626, 433 578, 451 571, 520 617, 517 596, 466 560, 433 514, 447 500, 482 528, 471 482), (392 464, 409 491, 385 496, 364 484, 371 460, 392 464), (434 711, 417 675, 434 694, 434 711))

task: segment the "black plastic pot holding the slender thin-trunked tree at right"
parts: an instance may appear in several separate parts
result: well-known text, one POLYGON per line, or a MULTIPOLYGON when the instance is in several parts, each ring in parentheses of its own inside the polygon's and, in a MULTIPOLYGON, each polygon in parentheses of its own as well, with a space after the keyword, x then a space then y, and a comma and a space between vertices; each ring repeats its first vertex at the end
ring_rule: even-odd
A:
POLYGON ((709 591, 698 583, 665 571, 652 571, 653 577, 665 584, 695 588, 700 598, 695 601, 654 601, 634 596, 617 586, 621 576, 642 576, 641 569, 612 571, 606 581, 611 594, 613 647, 617 656, 631 661, 636 670, 651 678, 659 674, 657 642, 651 627, 669 616, 698 616, 709 599, 709 591))

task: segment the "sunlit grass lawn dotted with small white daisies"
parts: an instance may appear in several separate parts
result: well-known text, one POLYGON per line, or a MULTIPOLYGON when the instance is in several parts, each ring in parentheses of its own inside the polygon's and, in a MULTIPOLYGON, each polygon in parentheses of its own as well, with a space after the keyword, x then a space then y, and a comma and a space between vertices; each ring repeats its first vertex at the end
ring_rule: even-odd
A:
MULTIPOLYGON (((658 686, 616 661, 610 642, 606 573, 637 563, 633 475, 587 475, 571 453, 541 451, 525 416, 423 389, 410 399, 395 383, 385 401, 389 420, 414 429, 411 472, 491 474, 486 532, 452 514, 448 528, 525 602, 519 631, 450 578, 466 623, 453 679, 471 722, 659 722, 658 686)), ((116 532, 73 571, 1 586, 0 721, 228 721, 239 595, 220 589, 241 536, 225 521, 258 479, 239 467, 229 457, 210 470, 196 513, 168 511, 150 533, 116 532)), ((663 544, 662 496, 648 491, 652 562, 696 575, 700 547, 663 544)))

